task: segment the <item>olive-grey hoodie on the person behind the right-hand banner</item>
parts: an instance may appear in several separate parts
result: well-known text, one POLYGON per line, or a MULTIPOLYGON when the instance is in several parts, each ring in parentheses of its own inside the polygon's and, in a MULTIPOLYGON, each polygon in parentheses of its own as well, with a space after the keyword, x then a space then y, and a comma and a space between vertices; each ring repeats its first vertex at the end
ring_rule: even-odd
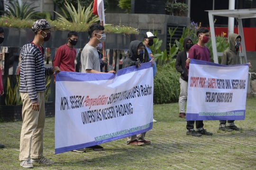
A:
MULTIPOLYGON (((224 65, 240 64, 239 53, 235 48, 235 42, 238 36, 239 36, 238 34, 233 34, 233 33, 229 34, 229 49, 223 52, 221 64, 224 64, 224 65)), ((239 36, 239 38, 241 39, 241 36, 239 36)))

